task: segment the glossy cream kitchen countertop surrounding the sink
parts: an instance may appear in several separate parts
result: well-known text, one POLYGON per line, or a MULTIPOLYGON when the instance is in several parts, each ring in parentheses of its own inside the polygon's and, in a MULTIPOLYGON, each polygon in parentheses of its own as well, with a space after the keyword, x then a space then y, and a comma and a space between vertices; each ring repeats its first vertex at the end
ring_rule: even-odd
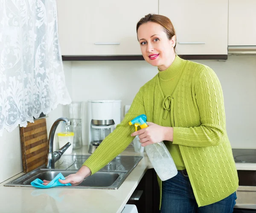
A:
MULTIPOLYGON (((76 155, 88 155, 88 147, 73 150, 76 155)), ((120 155, 141 155, 143 158, 118 190, 34 187, 4 187, 24 173, 0 184, 1 213, 121 213, 146 170, 152 168, 145 153, 135 153, 128 147, 120 155)), ((256 170, 256 164, 236 164, 238 170, 256 170)))

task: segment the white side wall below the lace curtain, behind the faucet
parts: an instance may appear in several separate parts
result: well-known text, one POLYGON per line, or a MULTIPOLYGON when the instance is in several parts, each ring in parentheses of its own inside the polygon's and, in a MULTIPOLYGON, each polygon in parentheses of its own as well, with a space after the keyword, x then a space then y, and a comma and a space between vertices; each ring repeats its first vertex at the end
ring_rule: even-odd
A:
MULTIPOLYGON (((72 94, 71 87, 71 62, 64 62, 65 80, 66 85, 69 90, 70 96, 72 94)), ((72 97, 72 96, 71 96, 72 97)), ((49 137, 49 132, 52 127, 53 122, 62 116, 68 116, 67 107, 58 105, 58 107, 49 113, 46 123, 47 123, 47 133, 49 137)), ((57 128, 56 132, 60 130, 57 128)), ((54 142, 54 150, 58 148, 58 144, 54 142)), ((17 127, 12 132, 3 132, 3 136, 0 137, 0 183, 17 175, 23 171, 22 168, 22 158, 20 149, 20 130, 17 127)))

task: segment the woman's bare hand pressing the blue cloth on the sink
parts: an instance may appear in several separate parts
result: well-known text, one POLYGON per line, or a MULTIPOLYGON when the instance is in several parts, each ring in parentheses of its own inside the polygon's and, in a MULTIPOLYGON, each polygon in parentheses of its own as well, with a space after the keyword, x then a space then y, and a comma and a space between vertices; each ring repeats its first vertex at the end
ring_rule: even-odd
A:
MULTIPOLYGON (((62 184, 67 184, 70 183, 72 184, 72 186, 77 186, 79 184, 81 184, 81 182, 84 180, 84 178, 88 177, 91 175, 91 170, 89 167, 87 166, 82 166, 77 173, 75 174, 71 174, 67 177, 65 177, 65 180, 61 180, 59 179, 58 181, 60 181, 60 183, 62 184)), ((50 181, 47 180, 43 180, 43 184, 47 185, 50 181)))

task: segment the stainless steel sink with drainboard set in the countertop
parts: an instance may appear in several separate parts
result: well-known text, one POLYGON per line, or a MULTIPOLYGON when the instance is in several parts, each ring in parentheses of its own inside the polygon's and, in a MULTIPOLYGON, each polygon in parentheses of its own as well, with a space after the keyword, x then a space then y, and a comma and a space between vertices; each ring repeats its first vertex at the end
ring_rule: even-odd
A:
MULTIPOLYGON (((30 183, 36 178, 51 181, 58 173, 62 173, 66 177, 76 173, 88 157, 89 155, 63 155, 62 161, 55 165, 55 170, 40 167, 6 183, 4 186, 32 187, 30 183)), ((70 187, 118 189, 141 159, 141 156, 117 156, 102 170, 85 178, 78 186, 70 187)))

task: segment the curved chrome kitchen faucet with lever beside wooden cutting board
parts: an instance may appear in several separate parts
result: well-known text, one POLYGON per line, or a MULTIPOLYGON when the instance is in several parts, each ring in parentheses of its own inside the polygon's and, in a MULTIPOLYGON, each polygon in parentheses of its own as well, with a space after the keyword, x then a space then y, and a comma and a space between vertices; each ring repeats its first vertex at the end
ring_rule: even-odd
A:
POLYGON ((58 118, 53 124, 50 130, 49 138, 48 138, 48 154, 47 154, 47 162, 46 168, 47 169, 54 169, 55 162, 61 158, 61 155, 70 147, 70 142, 67 142, 63 147, 61 147, 58 151, 53 152, 53 139, 55 135, 56 128, 61 121, 65 121, 67 125, 71 124, 70 119, 68 118, 58 118))

